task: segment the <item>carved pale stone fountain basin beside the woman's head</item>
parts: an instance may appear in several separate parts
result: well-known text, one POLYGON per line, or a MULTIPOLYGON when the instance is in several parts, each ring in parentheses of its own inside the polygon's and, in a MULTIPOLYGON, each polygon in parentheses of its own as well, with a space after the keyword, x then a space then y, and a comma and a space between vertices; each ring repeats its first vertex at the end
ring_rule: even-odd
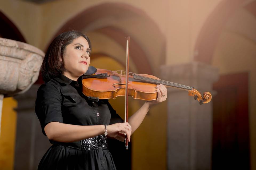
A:
POLYGON ((26 92, 38 79, 45 53, 26 43, 0 38, 0 94, 26 92))

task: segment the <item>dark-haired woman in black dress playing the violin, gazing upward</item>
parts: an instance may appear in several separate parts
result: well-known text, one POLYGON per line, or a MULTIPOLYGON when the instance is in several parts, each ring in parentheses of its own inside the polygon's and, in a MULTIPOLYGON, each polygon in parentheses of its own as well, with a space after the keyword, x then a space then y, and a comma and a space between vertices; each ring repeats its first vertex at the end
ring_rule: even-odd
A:
POLYGON ((90 54, 89 38, 78 31, 57 36, 45 54, 41 67, 45 84, 37 91, 35 112, 53 145, 38 169, 116 169, 105 132, 130 141, 150 106, 166 100, 167 89, 158 84, 157 100, 146 101, 129 123, 123 123, 107 99, 91 101, 82 94, 81 76, 88 70, 90 54))

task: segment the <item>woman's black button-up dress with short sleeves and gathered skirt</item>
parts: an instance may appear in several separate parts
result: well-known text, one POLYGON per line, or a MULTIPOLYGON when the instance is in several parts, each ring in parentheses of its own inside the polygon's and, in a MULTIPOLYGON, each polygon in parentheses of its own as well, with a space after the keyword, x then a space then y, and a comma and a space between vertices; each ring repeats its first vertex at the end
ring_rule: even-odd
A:
MULTIPOLYGON (((72 125, 109 125, 123 122, 108 100, 91 101, 78 82, 60 75, 42 84, 37 91, 35 112, 44 127, 50 122, 72 125)), ((83 150, 81 141, 53 144, 41 159, 38 169, 116 169, 108 149, 83 150)), ((105 147, 105 146, 104 146, 105 147)))

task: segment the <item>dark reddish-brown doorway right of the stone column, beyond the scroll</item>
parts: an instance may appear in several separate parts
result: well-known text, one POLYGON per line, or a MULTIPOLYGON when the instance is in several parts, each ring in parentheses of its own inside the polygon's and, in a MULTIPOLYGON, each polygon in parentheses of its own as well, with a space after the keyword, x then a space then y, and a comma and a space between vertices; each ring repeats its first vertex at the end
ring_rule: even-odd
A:
POLYGON ((213 89, 212 169, 250 169, 248 73, 222 75, 213 89))

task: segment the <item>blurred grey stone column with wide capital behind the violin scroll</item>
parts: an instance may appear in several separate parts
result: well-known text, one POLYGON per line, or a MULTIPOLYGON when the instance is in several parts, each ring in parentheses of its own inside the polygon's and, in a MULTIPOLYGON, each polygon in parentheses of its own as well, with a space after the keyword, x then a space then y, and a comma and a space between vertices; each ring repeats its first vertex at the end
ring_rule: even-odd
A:
MULTIPOLYGON (((208 91, 218 70, 203 63, 162 66, 167 81, 194 87, 201 95, 208 91)), ((212 101, 200 105, 187 91, 168 88, 167 168, 179 170, 211 169, 212 101)))

